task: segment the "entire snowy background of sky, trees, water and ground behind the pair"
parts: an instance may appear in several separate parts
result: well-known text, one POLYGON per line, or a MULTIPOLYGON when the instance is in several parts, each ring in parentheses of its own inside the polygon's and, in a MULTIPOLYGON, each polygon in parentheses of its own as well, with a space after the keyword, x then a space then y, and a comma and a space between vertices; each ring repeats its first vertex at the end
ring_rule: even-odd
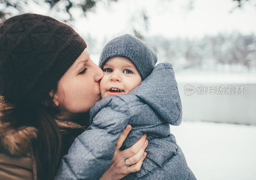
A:
POLYGON ((242 0, 241 7, 233 0, 94 2, 86 13, 70 8, 73 19, 63 11, 68 0, 52 9, 44 0, 27 0, 21 10, 0 0, 0 12, 5 18, 33 12, 65 21, 85 39, 96 64, 101 49, 116 36, 130 33, 147 41, 158 54, 157 63, 173 65, 183 122, 171 126, 171 133, 197 179, 256 179, 256 1, 242 0), (186 85, 193 94, 186 94, 186 85), (244 89, 242 94, 217 94, 217 89, 198 94, 198 86, 244 89))

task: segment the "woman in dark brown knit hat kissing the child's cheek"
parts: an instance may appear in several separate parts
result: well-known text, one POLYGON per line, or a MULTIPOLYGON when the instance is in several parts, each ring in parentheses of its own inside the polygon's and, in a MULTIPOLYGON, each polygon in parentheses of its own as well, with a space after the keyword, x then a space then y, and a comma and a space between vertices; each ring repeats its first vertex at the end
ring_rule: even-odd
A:
MULTIPOLYGON (((86 43, 68 25, 37 14, 7 19, 0 26, 0 179, 52 179, 61 157, 89 125, 102 77, 86 43)), ((117 140, 102 179, 140 169, 146 135, 119 150, 130 130, 128 125, 117 140), (134 165, 127 167, 127 158, 134 165)))

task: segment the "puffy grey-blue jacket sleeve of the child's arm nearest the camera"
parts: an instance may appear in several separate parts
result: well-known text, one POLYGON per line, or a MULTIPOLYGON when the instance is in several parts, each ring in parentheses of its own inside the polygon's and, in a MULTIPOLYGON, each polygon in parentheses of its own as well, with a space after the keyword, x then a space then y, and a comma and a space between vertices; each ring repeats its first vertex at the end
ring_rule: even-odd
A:
POLYGON ((130 118, 123 100, 113 96, 63 156, 54 179, 100 179, 110 165, 116 139, 130 118))

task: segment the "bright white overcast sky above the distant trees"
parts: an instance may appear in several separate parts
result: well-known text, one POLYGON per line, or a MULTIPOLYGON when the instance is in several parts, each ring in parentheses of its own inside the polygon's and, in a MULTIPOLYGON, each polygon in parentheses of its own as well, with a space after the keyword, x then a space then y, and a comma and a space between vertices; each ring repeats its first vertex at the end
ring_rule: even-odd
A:
POLYGON ((145 35, 166 37, 202 37, 233 31, 255 33, 256 1, 245 2, 241 9, 235 8, 236 5, 233 0, 119 0, 109 8, 99 4, 96 13, 77 18, 74 25, 79 32, 90 31, 97 37, 133 33, 132 27, 145 35), (143 11, 148 16, 147 31, 140 16, 143 11))

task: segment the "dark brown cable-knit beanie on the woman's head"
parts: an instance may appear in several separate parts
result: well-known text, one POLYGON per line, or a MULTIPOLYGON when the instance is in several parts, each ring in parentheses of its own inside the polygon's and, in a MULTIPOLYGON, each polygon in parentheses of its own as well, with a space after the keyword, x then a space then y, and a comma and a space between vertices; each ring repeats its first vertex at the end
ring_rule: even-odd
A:
POLYGON ((0 26, 0 95, 40 104, 85 48, 70 26, 48 16, 5 20, 0 26))

